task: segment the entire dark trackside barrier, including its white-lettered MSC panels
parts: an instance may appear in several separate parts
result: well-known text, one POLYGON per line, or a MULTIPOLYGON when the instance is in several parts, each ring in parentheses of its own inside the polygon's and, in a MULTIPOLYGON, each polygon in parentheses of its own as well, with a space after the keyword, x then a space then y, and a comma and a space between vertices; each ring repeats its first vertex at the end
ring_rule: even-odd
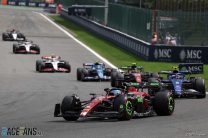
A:
POLYGON ((145 41, 106 27, 87 18, 69 15, 68 9, 62 9, 61 16, 147 61, 208 64, 208 57, 206 57, 208 53, 207 46, 152 46, 145 41))

